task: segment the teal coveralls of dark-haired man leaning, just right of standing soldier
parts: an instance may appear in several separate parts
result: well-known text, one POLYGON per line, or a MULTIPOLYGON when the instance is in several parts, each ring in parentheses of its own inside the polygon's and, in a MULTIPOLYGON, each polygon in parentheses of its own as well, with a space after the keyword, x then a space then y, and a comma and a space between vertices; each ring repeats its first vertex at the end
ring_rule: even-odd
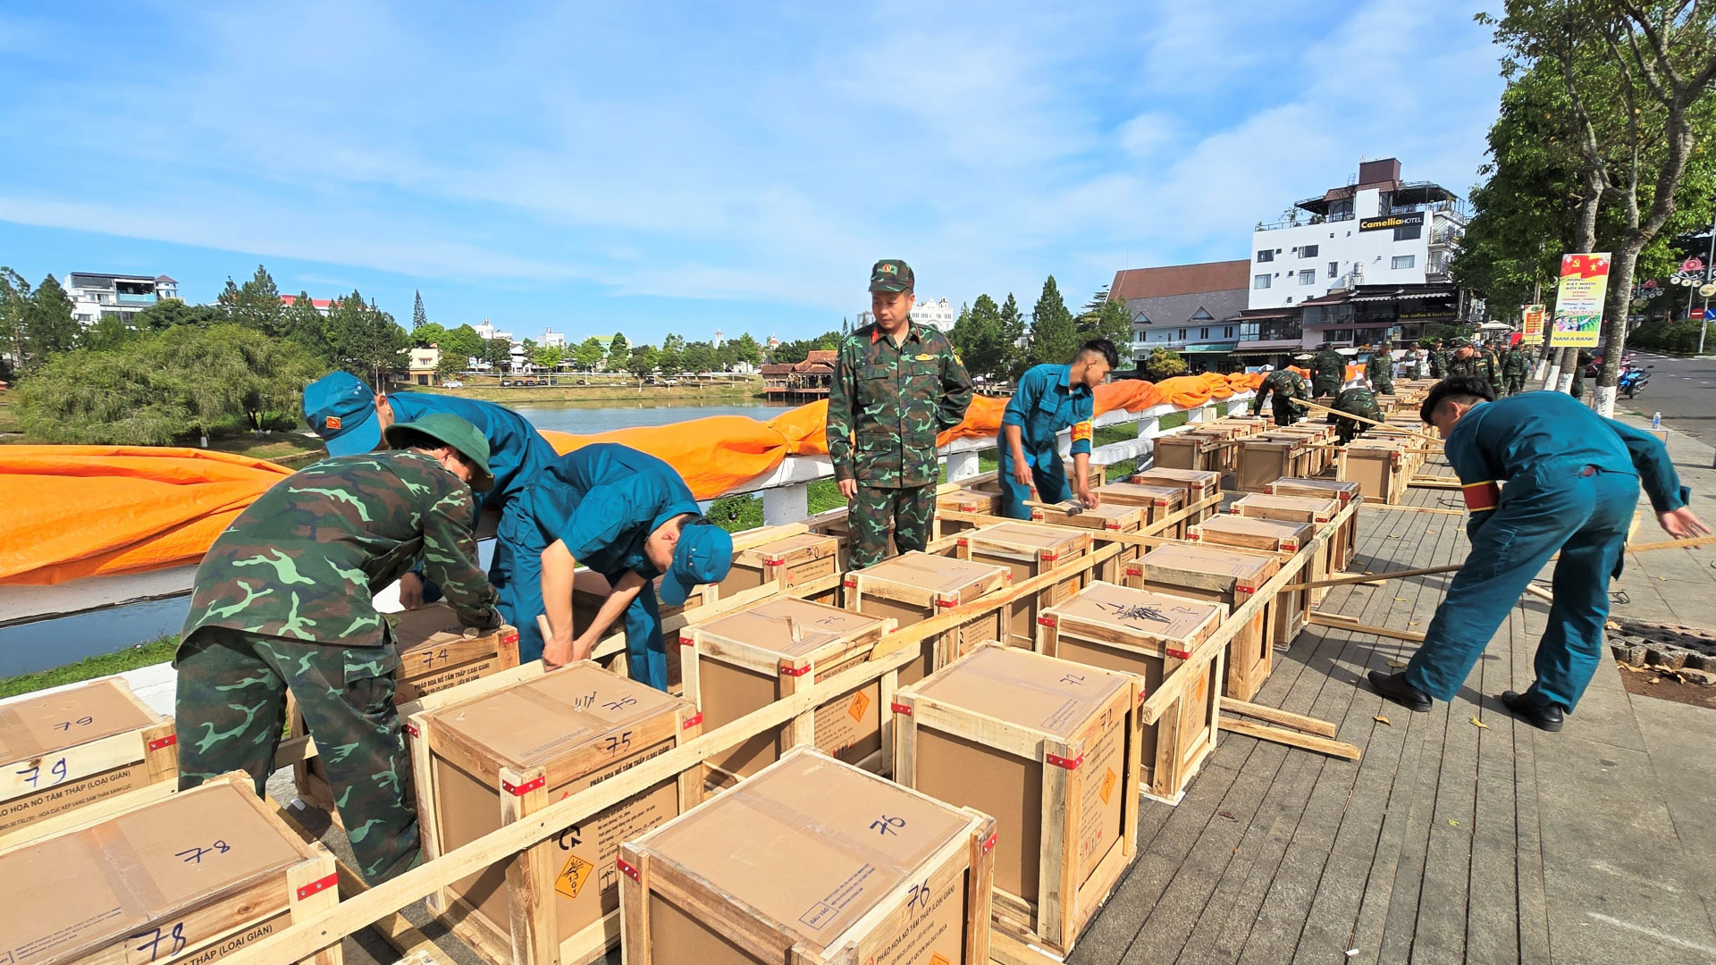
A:
POLYGON ((1031 479, 1043 503, 1062 503, 1072 498, 1066 465, 1060 462, 1057 433, 1072 429, 1072 455, 1090 453, 1090 419, 1095 412, 1090 388, 1072 385, 1072 366, 1031 366, 1019 376, 1019 388, 1007 402, 1000 417, 1000 513, 1012 519, 1031 519, 1024 501, 1031 491, 1012 477, 1012 446, 1007 445, 1007 426, 1019 428, 1019 448, 1031 467, 1031 479))

